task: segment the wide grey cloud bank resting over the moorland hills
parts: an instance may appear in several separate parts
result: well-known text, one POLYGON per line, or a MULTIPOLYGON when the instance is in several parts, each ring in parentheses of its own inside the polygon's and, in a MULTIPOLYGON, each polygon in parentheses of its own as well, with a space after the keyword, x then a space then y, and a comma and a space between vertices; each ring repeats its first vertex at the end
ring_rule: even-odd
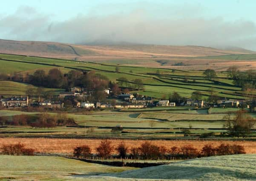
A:
POLYGON ((195 9, 200 11, 201 8, 186 7, 185 13, 181 8, 175 8, 157 16, 148 8, 134 8, 129 12, 104 15, 78 14, 56 21, 34 8, 21 7, 14 14, 0 17, 0 38, 79 44, 109 40, 158 45, 236 46, 256 50, 254 22, 246 19, 230 21, 221 16, 206 18, 198 11, 193 14, 195 9))

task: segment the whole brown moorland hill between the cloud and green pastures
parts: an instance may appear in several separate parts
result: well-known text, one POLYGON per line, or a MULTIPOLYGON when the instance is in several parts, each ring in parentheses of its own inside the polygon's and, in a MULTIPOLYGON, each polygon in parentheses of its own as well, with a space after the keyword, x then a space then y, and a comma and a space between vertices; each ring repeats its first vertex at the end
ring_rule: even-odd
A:
POLYGON ((58 42, 12 41, 0 39, 0 53, 63 58, 106 64, 164 67, 182 70, 240 70, 256 67, 256 52, 239 47, 216 49, 202 46, 120 44, 73 45, 58 42))

